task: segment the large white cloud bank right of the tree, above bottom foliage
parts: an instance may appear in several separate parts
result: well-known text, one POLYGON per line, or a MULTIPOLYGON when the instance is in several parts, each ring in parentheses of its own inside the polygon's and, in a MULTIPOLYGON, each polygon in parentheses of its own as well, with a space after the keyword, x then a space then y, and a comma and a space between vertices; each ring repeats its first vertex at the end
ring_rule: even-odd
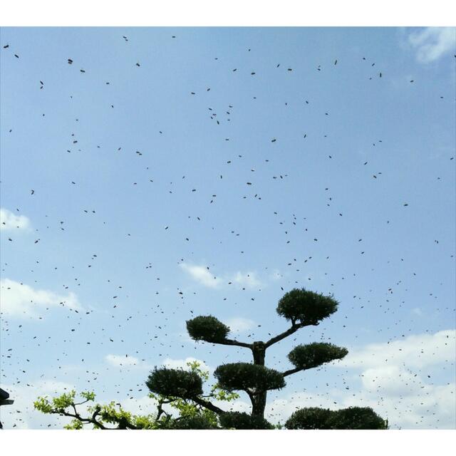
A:
POLYGON ((286 395, 267 405, 266 418, 284 423, 297 408, 338 410, 357 405, 373 408, 388 419, 391 429, 454 429, 456 384, 445 383, 438 372, 449 366, 454 372, 455 338, 455 330, 446 330, 351 351, 330 367, 346 370, 345 389, 286 395), (431 366, 432 377, 427 375, 431 366))

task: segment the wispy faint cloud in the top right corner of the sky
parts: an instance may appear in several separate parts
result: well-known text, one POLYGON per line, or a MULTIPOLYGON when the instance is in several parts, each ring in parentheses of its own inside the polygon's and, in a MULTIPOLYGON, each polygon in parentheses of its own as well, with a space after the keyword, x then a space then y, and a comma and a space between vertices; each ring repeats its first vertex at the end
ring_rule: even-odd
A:
POLYGON ((421 63, 430 63, 449 53, 456 46, 455 27, 426 27, 410 33, 408 43, 421 63))

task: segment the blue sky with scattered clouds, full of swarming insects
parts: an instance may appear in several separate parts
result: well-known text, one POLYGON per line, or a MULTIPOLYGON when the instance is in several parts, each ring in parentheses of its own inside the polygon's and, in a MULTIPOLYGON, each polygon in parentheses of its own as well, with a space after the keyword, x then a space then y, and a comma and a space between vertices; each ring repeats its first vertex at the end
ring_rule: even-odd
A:
POLYGON ((65 388, 152 410, 153 366, 250 361, 193 343, 187 319, 264 340, 303 286, 339 310, 266 365, 311 341, 350 354, 287 378, 272 421, 371 405, 456 427, 455 37, 1 28, 5 427, 61 427, 31 401, 65 388))

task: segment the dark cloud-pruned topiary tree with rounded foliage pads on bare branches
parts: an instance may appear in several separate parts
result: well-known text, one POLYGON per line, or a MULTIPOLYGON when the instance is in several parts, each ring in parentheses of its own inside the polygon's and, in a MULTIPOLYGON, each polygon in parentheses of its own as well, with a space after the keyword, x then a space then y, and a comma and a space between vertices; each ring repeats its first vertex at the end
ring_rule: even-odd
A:
MULTIPOLYGON (((239 346, 252 351, 253 363, 227 363, 214 371, 219 388, 229 392, 244 391, 247 393, 252 402, 250 415, 226 412, 209 400, 202 398, 201 384, 198 383, 197 378, 178 369, 155 368, 147 378, 147 387, 152 393, 177 396, 207 408, 218 415, 219 424, 224 428, 270 429, 274 426, 264 419, 267 392, 284 388, 285 378, 288 375, 340 360, 346 356, 348 351, 346 348, 335 346, 332 343, 299 345, 288 355, 294 368, 279 372, 264 366, 267 348, 305 326, 317 326, 323 319, 336 312, 337 307, 338 302, 333 299, 333 296, 324 296, 306 289, 293 289, 280 299, 276 309, 280 316, 284 316, 291 323, 291 326, 266 342, 246 343, 229 338, 229 327, 212 315, 197 316, 187 321, 187 331, 195 341, 239 346)), ((303 409, 300 410, 300 414, 295 413, 294 418, 290 418, 287 423, 290 423, 290 429, 348 429, 351 427, 361 429, 363 425, 371 429, 379 428, 378 420, 381 418, 375 415, 373 410, 369 409, 373 415, 366 410, 344 409, 339 410, 338 415, 334 415, 331 410, 303 409), (301 423, 301 427, 298 423, 301 423)), ((383 422, 383 420, 381 421, 383 422)))

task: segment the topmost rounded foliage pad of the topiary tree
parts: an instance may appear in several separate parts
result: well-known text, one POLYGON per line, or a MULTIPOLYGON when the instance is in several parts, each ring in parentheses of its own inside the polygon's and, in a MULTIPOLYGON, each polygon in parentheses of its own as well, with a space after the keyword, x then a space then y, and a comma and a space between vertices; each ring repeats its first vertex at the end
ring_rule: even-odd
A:
POLYGON ((338 302, 333 296, 293 289, 279 301, 277 314, 292 322, 300 321, 306 325, 316 325, 337 310, 338 302))

